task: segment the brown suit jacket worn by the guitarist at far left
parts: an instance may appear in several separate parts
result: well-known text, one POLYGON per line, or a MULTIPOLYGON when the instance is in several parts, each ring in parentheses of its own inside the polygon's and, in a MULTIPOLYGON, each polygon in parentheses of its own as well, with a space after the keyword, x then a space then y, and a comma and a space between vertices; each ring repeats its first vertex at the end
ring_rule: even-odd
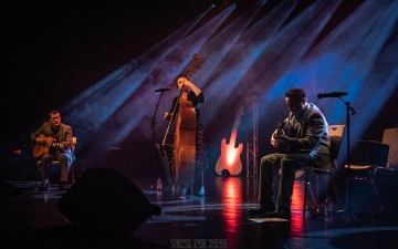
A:
MULTIPOLYGON (((33 132, 30 135, 32 143, 34 143, 34 139, 41 134, 43 134, 46 137, 54 137, 57 139, 59 143, 62 143, 62 142, 73 143, 72 127, 69 125, 65 125, 63 123, 61 123, 60 129, 55 134, 54 131, 51 128, 50 122, 44 122, 44 124, 40 128, 38 128, 38 131, 33 132)), ((63 149, 63 152, 71 156, 72 162, 75 159, 74 154, 70 147, 67 147, 66 149, 63 149)))

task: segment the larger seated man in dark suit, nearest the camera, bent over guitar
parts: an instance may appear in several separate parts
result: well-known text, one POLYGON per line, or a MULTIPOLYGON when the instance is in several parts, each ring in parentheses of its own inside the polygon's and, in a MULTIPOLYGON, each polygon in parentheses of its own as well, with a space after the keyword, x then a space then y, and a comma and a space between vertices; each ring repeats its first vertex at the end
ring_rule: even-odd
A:
POLYGON ((331 139, 322 112, 307 103, 302 89, 290 90, 285 94, 285 103, 289 116, 271 136, 271 144, 277 148, 277 153, 261 158, 260 206, 249 209, 250 214, 269 212, 270 218, 290 218, 295 170, 305 165, 323 169, 336 167, 329 158, 331 139), (281 173, 276 209, 272 201, 273 169, 281 173))

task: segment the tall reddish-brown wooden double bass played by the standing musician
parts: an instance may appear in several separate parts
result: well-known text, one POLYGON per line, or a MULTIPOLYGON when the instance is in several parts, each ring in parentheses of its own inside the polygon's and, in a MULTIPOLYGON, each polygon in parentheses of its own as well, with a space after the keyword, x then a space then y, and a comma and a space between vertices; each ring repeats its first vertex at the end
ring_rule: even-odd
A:
MULTIPOLYGON (((186 74, 187 77, 192 75, 199 63, 199 54, 193 54, 192 63, 186 74)), ((172 185, 192 184, 195 179, 197 121, 192 103, 181 97, 184 87, 182 85, 172 110, 174 114, 177 111, 178 113, 176 116, 171 116, 168 123, 161 147, 157 145, 165 166, 167 181, 172 185), (174 142, 167 143, 174 120, 176 120, 174 142), (167 148, 169 148, 168 152, 167 148)))

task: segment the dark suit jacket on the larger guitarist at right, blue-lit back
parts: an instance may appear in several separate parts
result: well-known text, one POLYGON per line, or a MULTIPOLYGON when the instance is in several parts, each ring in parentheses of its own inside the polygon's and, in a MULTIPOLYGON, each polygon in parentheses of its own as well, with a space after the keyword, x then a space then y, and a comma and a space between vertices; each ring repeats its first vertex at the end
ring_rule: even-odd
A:
POLYGON ((336 168, 335 159, 331 158, 327 122, 316 105, 307 103, 300 116, 290 113, 286 121, 292 127, 286 137, 290 153, 308 153, 313 167, 336 168))

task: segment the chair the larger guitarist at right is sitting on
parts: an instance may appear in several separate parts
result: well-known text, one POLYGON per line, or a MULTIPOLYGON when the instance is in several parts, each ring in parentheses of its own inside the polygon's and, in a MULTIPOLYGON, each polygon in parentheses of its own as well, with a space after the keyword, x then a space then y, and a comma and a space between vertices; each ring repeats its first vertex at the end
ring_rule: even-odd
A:
MULTIPOLYGON (((342 139, 343 139, 343 134, 344 134, 344 128, 345 128, 345 125, 328 125, 327 126, 327 131, 329 133, 329 137, 331 137, 331 157, 333 160, 337 160, 337 156, 338 156, 338 152, 339 152, 339 148, 341 148, 341 145, 342 145, 342 139)), ((305 217, 305 209, 306 209, 306 193, 307 193, 307 187, 310 187, 310 193, 311 193, 311 196, 312 196, 312 200, 315 205, 315 208, 318 210, 318 207, 317 207, 317 204, 316 204, 316 200, 315 200, 315 197, 314 197, 314 194, 313 194, 313 190, 312 190, 312 187, 311 187, 311 184, 308 181, 308 175, 310 174, 313 174, 313 175, 316 175, 316 177, 318 175, 324 175, 325 177, 326 176, 329 176, 331 177, 331 181, 332 181, 332 186, 333 186, 333 189, 334 189, 334 193, 335 193, 335 196, 338 200, 338 205, 339 207, 342 208, 342 201, 339 199, 339 196, 338 196, 338 191, 337 191, 337 188, 336 188, 336 184, 333 179, 333 176, 332 176, 332 172, 333 170, 326 170, 326 169, 321 169, 321 168, 314 168, 314 167, 308 167, 308 166, 305 166, 304 167, 304 175, 305 175, 305 190, 304 190, 304 204, 303 204, 303 217, 305 217)))

